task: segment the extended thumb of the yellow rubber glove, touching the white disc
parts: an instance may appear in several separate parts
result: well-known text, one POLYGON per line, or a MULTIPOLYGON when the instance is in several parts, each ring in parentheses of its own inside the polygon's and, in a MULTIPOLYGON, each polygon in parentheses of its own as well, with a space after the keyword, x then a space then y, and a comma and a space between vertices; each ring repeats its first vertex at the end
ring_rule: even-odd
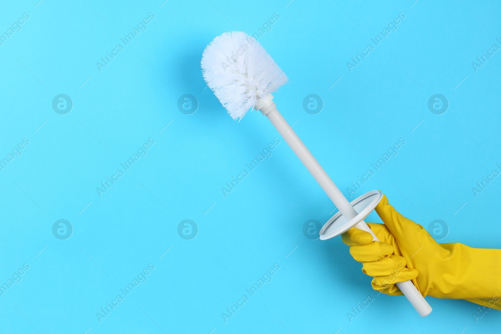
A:
POLYGON ((438 245, 421 225, 405 218, 396 211, 388 203, 388 198, 385 195, 383 195, 375 210, 395 237, 402 255, 410 257, 424 245, 438 245))

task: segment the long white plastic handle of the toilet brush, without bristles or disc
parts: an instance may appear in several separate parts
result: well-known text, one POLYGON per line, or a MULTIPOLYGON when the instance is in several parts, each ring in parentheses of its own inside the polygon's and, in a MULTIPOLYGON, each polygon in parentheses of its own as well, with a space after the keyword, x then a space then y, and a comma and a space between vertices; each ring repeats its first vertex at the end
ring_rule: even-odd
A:
MULTIPOLYGON (((259 99, 256 109, 259 109, 263 115, 266 115, 272 122, 280 135, 292 148, 294 153, 299 157, 301 162, 306 166, 311 175, 317 180, 318 184, 324 192, 329 196, 332 203, 339 209, 341 214, 347 221, 355 218, 357 212, 351 206, 350 202, 344 197, 343 193, 334 184, 331 178, 324 171, 320 163, 313 156, 310 150, 305 146, 303 141, 298 137, 296 132, 287 123, 284 117, 277 110, 277 105, 273 102, 273 96, 270 94, 266 99, 259 99)), ((357 228, 367 231, 372 235, 373 240, 379 241, 376 235, 372 232, 369 226, 364 222, 356 225, 357 228)), ((407 297, 412 306, 421 316, 426 316, 431 312, 431 306, 426 302, 424 297, 419 293, 417 288, 411 281, 396 283, 402 293, 407 297)))

